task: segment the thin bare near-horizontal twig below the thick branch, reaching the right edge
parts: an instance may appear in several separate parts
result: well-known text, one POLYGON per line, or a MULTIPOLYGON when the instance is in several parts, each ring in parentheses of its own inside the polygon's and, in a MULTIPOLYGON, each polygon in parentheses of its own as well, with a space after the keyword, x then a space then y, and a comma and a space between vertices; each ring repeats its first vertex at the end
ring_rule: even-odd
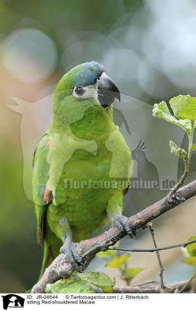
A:
POLYGON ((169 245, 165 247, 157 247, 157 248, 129 248, 129 247, 117 247, 117 246, 109 246, 109 249, 112 250, 123 250, 126 252, 155 252, 157 250, 165 250, 165 249, 171 249, 171 248, 176 248, 176 247, 186 247, 189 244, 196 243, 196 240, 192 240, 189 242, 184 242, 181 244, 174 244, 174 245, 169 245))

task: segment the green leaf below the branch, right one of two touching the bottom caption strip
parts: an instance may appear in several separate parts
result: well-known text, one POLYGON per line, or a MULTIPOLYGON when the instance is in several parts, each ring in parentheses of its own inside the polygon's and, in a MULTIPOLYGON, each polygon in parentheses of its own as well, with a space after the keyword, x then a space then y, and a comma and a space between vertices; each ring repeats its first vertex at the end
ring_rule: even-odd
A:
POLYGON ((89 273, 78 273, 78 276, 87 283, 93 284, 100 289, 103 289, 106 293, 111 293, 112 288, 115 285, 115 279, 112 281, 104 272, 89 272, 89 273))

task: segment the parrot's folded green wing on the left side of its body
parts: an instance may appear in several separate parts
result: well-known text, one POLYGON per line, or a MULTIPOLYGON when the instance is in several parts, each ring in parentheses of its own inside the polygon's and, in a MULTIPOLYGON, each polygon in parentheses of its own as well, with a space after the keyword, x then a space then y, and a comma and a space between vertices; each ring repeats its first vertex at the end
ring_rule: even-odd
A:
POLYGON ((45 210, 47 207, 47 204, 44 201, 44 192, 46 183, 49 179, 49 164, 46 161, 49 151, 49 147, 46 147, 48 139, 49 135, 44 134, 37 144, 33 158, 32 173, 33 200, 37 216, 37 238, 38 242, 42 245, 44 244, 45 210))

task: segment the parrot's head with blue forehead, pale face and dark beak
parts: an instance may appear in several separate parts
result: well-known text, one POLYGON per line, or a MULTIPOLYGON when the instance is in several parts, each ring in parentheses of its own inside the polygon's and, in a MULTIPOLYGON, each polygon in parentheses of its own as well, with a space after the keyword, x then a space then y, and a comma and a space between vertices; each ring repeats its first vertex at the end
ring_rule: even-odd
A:
POLYGON ((121 100, 120 90, 102 65, 97 62, 80 64, 59 81, 53 101, 54 120, 58 115, 70 124, 90 107, 107 110, 115 98, 121 100))

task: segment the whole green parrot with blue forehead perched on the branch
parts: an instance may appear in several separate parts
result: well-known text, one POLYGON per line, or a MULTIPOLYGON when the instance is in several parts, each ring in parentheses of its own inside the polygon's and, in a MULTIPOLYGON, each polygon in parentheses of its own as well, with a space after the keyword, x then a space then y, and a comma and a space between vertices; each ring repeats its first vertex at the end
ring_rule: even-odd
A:
POLYGON ((133 160, 113 122, 115 98, 120 101, 120 90, 97 62, 72 68, 54 93, 53 123, 33 159, 37 236, 44 245, 40 277, 60 252, 81 272, 75 243, 104 224, 134 234, 122 216, 133 160))

